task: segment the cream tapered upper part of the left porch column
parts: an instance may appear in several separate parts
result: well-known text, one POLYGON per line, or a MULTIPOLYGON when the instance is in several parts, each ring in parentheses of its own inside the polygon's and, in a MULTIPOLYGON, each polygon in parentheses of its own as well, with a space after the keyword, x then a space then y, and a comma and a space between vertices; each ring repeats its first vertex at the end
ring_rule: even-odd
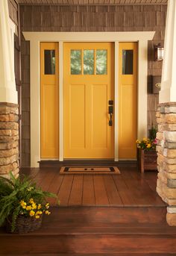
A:
POLYGON ((7 1, 0 1, 0 102, 17 104, 13 33, 7 1))

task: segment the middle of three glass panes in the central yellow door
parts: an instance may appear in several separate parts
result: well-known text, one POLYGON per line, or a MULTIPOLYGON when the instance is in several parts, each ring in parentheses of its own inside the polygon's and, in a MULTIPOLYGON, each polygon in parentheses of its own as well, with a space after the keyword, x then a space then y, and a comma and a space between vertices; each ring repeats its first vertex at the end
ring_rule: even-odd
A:
POLYGON ((94 74, 94 50, 84 50, 84 75, 94 74))

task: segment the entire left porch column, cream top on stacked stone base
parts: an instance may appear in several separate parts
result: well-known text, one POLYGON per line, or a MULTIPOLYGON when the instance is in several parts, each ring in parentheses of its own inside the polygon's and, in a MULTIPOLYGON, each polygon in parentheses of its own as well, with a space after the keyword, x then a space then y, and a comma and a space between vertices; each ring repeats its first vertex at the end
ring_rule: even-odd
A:
POLYGON ((19 125, 7 0, 0 1, 0 175, 19 173, 19 125))

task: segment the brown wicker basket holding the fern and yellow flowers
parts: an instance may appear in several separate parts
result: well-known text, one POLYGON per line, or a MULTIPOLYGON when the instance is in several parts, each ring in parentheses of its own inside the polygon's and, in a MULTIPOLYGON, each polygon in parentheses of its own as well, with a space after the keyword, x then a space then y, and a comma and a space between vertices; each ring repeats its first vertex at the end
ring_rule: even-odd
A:
POLYGON ((11 231, 11 222, 10 219, 7 219, 6 222, 6 230, 7 233, 13 234, 25 234, 31 231, 35 231, 42 225, 42 217, 40 219, 35 219, 34 217, 25 217, 19 215, 16 219, 16 228, 12 232, 11 231))

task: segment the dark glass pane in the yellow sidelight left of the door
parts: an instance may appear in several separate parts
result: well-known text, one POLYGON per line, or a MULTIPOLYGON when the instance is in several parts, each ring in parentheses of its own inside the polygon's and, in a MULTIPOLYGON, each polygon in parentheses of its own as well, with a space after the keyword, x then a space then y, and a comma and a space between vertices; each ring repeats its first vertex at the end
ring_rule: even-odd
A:
POLYGON ((55 50, 45 50, 45 75, 55 74, 55 50))

